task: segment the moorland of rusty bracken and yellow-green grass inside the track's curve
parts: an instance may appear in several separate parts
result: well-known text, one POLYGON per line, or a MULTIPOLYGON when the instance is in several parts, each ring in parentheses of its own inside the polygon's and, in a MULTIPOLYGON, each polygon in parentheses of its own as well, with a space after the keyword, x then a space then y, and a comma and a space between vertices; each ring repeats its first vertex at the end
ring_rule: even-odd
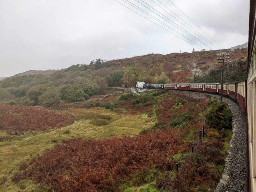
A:
MULTIPOLYGON (((26 115, 16 112, 16 105, 3 106, 7 113, 26 115)), ((214 118, 230 121, 232 116, 228 106, 218 101, 198 102, 158 90, 112 95, 90 105, 40 109, 68 116, 75 123, 16 135, 0 129, 5 154, 0 159, 2 190, 158 191, 167 183, 172 191, 213 191, 224 171, 230 122, 218 128, 209 117, 217 113, 222 115, 214 118), (205 118, 200 143, 198 131, 205 118), (179 179, 173 171, 178 162, 179 179)))

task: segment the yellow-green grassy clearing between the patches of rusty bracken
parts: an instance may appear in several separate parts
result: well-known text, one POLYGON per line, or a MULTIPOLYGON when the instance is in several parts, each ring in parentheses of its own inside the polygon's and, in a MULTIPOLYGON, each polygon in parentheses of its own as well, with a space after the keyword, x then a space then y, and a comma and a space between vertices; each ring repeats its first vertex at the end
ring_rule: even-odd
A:
MULTIPOLYGON (((77 137, 103 139, 123 135, 134 136, 154 124, 154 121, 146 115, 116 114, 100 108, 69 111, 77 118, 69 126, 46 132, 9 136, 8 141, 0 142, 0 191, 42 190, 38 184, 33 184, 29 179, 14 183, 11 177, 18 171, 21 163, 28 162, 32 157, 41 154, 46 148, 54 147, 62 140, 77 137)), ((0 136, 8 135, 0 132, 0 136)))

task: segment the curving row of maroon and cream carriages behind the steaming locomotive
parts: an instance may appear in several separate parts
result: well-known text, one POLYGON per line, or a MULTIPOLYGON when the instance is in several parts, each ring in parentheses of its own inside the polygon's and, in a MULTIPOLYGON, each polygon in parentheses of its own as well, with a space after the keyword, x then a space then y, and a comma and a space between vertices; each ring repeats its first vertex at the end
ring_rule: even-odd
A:
MULTIPOLYGON (((241 82, 223 83, 223 96, 230 97, 237 101, 244 113, 246 113, 246 80, 241 82)), ((221 94, 221 83, 169 83, 169 84, 151 84, 147 88, 185 90, 221 94)))

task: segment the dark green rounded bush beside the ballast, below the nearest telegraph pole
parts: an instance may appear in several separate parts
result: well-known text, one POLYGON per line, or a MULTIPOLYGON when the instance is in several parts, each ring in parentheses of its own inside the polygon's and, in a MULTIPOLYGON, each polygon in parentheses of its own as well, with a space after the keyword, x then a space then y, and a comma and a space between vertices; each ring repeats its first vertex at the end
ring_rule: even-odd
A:
POLYGON ((227 103, 215 99, 209 101, 208 106, 210 109, 205 116, 206 122, 211 128, 232 129, 233 114, 227 103))

